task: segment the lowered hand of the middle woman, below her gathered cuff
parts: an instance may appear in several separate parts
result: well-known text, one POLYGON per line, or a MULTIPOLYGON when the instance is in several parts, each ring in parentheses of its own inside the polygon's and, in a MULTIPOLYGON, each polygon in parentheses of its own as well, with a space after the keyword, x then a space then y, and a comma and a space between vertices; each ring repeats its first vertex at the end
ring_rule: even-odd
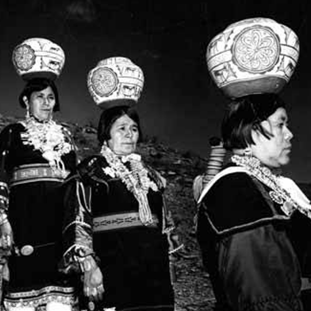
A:
POLYGON ((96 263, 94 267, 94 263, 89 271, 84 271, 83 292, 91 301, 99 301, 103 299, 104 293, 103 275, 96 263))

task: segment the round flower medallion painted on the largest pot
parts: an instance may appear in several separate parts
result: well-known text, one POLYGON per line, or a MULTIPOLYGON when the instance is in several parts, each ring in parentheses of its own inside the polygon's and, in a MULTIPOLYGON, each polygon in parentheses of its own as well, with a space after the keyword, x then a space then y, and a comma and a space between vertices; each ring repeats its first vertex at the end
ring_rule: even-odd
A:
POLYGON ((233 61, 241 69, 252 73, 271 70, 280 55, 280 42, 269 27, 252 26, 235 38, 233 61))

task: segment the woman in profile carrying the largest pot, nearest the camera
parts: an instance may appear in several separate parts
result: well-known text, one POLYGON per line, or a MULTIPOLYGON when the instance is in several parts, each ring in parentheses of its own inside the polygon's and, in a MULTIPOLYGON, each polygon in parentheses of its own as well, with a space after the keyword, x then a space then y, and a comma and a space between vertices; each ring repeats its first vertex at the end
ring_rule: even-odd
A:
POLYGON ((197 232, 218 307, 302 310, 303 240, 292 239, 293 225, 300 219, 310 230, 311 206, 279 175, 293 138, 284 102, 275 94, 232 101, 222 138, 233 156, 201 194, 197 232))

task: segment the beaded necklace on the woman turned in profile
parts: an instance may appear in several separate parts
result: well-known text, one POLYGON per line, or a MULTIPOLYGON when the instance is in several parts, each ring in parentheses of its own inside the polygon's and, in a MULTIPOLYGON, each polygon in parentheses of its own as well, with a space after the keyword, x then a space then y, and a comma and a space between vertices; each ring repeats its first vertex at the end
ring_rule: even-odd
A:
POLYGON ((280 185, 279 176, 272 173, 266 166, 261 165, 260 160, 253 156, 238 156, 231 157, 231 161, 239 166, 246 168, 250 175, 257 178, 263 184, 271 188, 269 196, 277 204, 281 205, 282 210, 287 216, 298 209, 301 213, 311 218, 311 210, 300 206, 290 193, 280 185))

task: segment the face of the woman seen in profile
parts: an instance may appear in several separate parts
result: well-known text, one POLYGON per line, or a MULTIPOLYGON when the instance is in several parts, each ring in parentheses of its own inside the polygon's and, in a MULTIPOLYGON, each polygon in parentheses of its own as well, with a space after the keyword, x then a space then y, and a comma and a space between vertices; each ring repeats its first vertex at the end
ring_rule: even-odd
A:
POLYGON ((267 120, 261 122, 262 127, 273 136, 268 139, 260 132, 253 130, 251 145, 253 156, 264 165, 277 168, 290 161, 292 132, 288 129, 288 118, 284 108, 278 108, 267 120))

